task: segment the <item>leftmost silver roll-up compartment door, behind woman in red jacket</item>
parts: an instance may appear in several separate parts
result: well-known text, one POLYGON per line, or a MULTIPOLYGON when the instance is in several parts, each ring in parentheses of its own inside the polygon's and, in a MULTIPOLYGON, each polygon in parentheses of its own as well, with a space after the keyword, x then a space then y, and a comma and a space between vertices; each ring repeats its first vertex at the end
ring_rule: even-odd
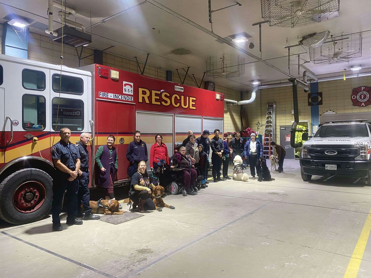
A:
POLYGON ((155 143, 156 134, 162 135, 162 142, 167 146, 169 157, 173 155, 173 114, 137 111, 137 130, 141 132, 141 139, 147 145, 147 169, 150 168, 151 146, 155 143))

